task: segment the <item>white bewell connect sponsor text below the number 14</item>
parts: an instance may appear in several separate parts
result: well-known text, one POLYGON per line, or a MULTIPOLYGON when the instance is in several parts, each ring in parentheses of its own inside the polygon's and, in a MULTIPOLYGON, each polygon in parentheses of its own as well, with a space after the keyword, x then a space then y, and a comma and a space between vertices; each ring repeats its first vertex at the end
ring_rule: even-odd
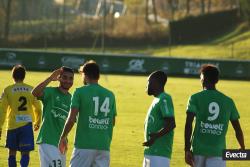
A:
POLYGON ((89 116, 89 128, 91 129, 100 129, 100 130, 106 130, 109 128, 110 124, 110 118, 93 118, 89 116))

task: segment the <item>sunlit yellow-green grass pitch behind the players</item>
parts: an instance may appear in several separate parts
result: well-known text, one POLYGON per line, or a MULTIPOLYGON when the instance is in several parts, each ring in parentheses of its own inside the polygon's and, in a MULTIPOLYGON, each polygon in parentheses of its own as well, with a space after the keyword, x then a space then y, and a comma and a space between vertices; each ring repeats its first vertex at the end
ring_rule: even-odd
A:
MULTIPOLYGON (((49 73, 45 72, 28 72, 26 83, 36 85, 49 73)), ((0 71, 0 91, 12 83, 10 71, 0 71)), ((120 75, 102 75, 100 83, 113 90, 117 99, 118 117, 114 128, 114 136, 111 145, 111 167, 139 167, 143 159, 143 127, 144 119, 152 97, 145 93, 147 82, 146 76, 120 76, 120 75)), ((57 85, 53 83, 52 85, 57 85)), ((74 87, 82 85, 80 75, 75 75, 74 87)), ((177 127, 174 137, 174 148, 171 160, 171 166, 184 167, 184 123, 185 109, 188 96, 201 89, 198 78, 169 78, 165 90, 173 97, 177 127)), ((249 114, 249 97, 250 84, 247 81, 225 81, 218 84, 218 89, 231 96, 238 107, 241 115, 241 124, 245 134, 246 148, 250 148, 250 114, 249 114)), ((5 133, 5 131, 4 131, 5 133)), ((37 135, 37 133, 36 133, 37 135)), ((69 137, 69 151, 67 153, 69 163, 73 147, 74 131, 69 137)), ((5 134, 0 141, 0 167, 7 166, 7 149, 4 148, 5 134)), ((227 147, 239 148, 234 137, 233 128, 230 125, 227 134, 227 147)), ((19 157, 18 157, 19 162, 19 157)), ((39 166, 39 155, 37 147, 31 153, 31 167, 39 166)), ((249 167, 250 161, 245 162, 228 162, 228 166, 249 167)))

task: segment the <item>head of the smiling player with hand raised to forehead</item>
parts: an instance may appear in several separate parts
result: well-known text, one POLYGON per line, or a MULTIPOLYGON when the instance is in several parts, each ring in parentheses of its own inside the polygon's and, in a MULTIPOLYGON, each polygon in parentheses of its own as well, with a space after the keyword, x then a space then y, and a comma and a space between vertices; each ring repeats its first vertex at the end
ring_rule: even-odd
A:
POLYGON ((65 90, 69 90, 73 85, 74 70, 69 67, 62 66, 61 71, 62 72, 59 76, 60 87, 65 90))

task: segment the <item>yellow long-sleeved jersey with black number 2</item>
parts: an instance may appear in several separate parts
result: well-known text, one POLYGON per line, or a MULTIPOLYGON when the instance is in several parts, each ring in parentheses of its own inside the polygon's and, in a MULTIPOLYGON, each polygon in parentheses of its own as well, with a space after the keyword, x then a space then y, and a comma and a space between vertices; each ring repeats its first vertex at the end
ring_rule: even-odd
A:
POLYGON ((32 86, 19 82, 4 89, 0 128, 7 121, 7 129, 16 129, 29 122, 40 125, 41 104, 31 93, 32 86))

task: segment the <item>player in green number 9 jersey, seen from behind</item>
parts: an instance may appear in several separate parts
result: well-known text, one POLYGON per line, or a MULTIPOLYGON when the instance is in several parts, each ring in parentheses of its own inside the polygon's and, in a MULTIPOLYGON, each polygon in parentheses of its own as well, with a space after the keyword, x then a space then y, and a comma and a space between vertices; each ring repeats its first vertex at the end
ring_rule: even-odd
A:
POLYGON ((222 150, 226 148, 225 138, 229 121, 233 125, 241 149, 245 149, 240 116, 233 100, 216 89, 215 85, 219 80, 217 67, 203 65, 200 73, 203 90, 193 94, 187 106, 185 161, 195 167, 225 167, 222 150), (196 119, 192 134, 194 117, 196 119))

